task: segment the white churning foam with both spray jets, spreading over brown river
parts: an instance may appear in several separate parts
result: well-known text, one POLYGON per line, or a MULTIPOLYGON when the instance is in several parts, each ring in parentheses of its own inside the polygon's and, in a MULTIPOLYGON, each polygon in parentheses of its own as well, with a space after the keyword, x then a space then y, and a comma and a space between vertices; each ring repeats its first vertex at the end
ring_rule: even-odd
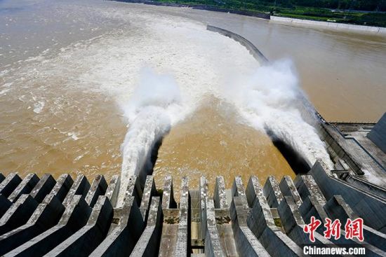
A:
MULTIPOLYGON (((36 113, 43 110, 41 102, 48 92, 55 96, 79 92, 82 97, 82 90, 91 91, 117 102, 128 126, 121 146, 120 201, 129 177, 149 164, 154 144, 193 113, 206 95, 231 102, 245 123, 258 130, 268 127, 310 163, 317 158, 326 162, 324 144, 299 107, 301 94, 291 65, 260 67, 244 46, 208 32, 201 23, 119 6, 72 7, 77 17, 99 17, 112 28, 20 62, 17 78, 8 77, 12 70, 0 71, 0 76, 15 81, 18 90, 24 87, 20 94, 29 95, 36 85, 44 87, 36 94, 39 102, 34 100, 36 113), (141 71, 142 67, 149 69, 141 71)), ((68 13, 63 6, 60 10, 68 13)), ((54 112, 62 108, 63 98, 50 106, 54 112)), ((68 136, 77 139, 76 134, 68 136)))

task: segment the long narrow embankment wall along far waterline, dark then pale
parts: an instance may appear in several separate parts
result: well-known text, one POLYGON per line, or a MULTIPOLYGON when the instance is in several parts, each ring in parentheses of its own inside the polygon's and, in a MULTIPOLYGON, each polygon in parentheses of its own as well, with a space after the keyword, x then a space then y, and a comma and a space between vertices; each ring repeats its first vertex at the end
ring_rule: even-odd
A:
POLYGON ((201 4, 174 4, 174 3, 165 3, 157 1, 147 1, 147 0, 111 0, 119 1, 125 3, 134 3, 134 4, 147 4, 152 6, 172 6, 172 7, 187 7, 198 10, 206 11, 215 11, 219 13, 233 13, 239 15, 246 15, 255 18, 262 18, 265 20, 273 20, 274 22, 280 23, 291 23, 294 25, 311 25, 313 27, 326 27, 328 29, 347 29, 354 32, 366 32, 371 34, 385 34, 386 27, 375 27, 375 26, 366 26, 366 25, 356 25, 351 23, 342 23, 342 22, 324 22, 320 20, 308 20, 308 19, 298 19, 298 18, 289 18, 284 16, 270 15, 269 13, 258 13, 255 11, 241 11, 234 9, 219 8, 214 6, 206 6, 201 4))

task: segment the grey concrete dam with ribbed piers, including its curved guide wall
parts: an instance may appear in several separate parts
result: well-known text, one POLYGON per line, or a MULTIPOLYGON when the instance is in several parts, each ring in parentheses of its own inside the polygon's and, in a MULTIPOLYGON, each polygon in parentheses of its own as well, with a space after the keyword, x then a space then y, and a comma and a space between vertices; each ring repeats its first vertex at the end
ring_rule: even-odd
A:
MULTIPOLYGON (((243 37, 208 29, 268 62, 243 37)), ((299 165, 300 155, 283 143, 295 179, 236 176, 226 188, 226 174, 218 174, 215 185, 201 176, 192 188, 187 177, 166 176, 156 188, 144 169, 122 188, 118 174, 110 181, 101 174, 0 174, 0 256, 307 256, 305 246, 386 256, 386 114, 376 124, 328 123, 314 112, 333 168, 322 160, 299 165), (314 240, 304 232, 312 218, 322 222, 314 240), (348 218, 363 219, 362 240, 343 231, 325 237, 328 219, 343 227, 348 218)))

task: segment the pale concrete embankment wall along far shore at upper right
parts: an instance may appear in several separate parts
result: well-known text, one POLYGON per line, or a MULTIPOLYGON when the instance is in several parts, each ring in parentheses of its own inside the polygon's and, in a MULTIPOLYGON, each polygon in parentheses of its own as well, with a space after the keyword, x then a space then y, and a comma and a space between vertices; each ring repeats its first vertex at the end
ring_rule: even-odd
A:
POLYGON ((371 27, 371 26, 353 25, 353 24, 346 24, 346 23, 339 23, 339 22, 321 22, 318 20, 302 20, 302 19, 286 18, 286 17, 279 17, 279 16, 273 16, 273 15, 271 15, 270 20, 274 22, 290 23, 293 25, 324 27, 328 29, 342 29, 342 30, 348 30, 353 32, 366 32, 371 34, 386 35, 385 27, 371 27))

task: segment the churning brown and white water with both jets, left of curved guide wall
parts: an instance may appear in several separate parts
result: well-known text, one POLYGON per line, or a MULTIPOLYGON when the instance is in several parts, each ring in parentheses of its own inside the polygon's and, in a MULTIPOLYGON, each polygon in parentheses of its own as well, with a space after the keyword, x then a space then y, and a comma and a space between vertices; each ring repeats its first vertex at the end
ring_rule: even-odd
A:
POLYGON ((291 60, 260 66, 189 12, 1 1, 1 169, 121 174, 126 188, 163 139, 159 186, 165 174, 193 186, 203 174, 293 176, 266 130, 331 165, 291 60))

